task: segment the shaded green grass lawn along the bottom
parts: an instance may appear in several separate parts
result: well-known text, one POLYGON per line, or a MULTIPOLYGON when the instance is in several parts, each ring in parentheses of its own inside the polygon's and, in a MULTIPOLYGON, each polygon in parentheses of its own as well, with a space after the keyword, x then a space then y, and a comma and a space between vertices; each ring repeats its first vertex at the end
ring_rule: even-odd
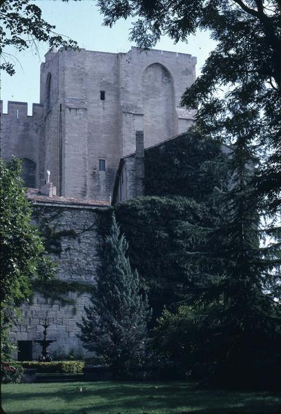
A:
POLYGON ((281 394, 184 382, 4 384, 2 407, 6 414, 276 414, 281 394))

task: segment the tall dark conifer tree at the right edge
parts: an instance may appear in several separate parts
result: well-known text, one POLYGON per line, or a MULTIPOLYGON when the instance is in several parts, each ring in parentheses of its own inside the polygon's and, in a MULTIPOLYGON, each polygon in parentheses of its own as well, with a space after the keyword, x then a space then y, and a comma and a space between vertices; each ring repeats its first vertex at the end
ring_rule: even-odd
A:
POLYGON ((262 361, 278 358, 281 347, 280 243, 272 237, 273 226, 264 226, 269 213, 262 217, 262 196, 253 184, 258 163, 253 142, 259 132, 255 119, 251 106, 233 101, 229 107, 228 128, 235 137, 226 161, 229 188, 217 197, 222 212, 208 252, 222 270, 207 280, 200 300, 209 306, 202 326, 210 357, 224 378, 235 373, 251 377, 262 361))

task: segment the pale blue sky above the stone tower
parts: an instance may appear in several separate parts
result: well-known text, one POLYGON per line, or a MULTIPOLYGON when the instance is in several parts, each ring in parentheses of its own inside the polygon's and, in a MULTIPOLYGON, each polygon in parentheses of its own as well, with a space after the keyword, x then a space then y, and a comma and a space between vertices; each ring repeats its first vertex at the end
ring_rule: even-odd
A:
MULTIPOLYGON (((56 31, 65 34, 79 43, 81 48, 87 50, 100 50, 103 52, 127 52, 130 46, 128 41, 130 21, 118 21, 113 28, 102 26, 103 17, 95 6, 93 0, 69 1, 36 0, 42 10, 43 18, 54 24, 56 31)), ((188 44, 177 43, 168 37, 162 37, 156 48, 174 52, 190 53, 197 57, 197 75, 200 73, 206 57, 215 47, 215 42, 209 39, 207 32, 198 32, 190 37, 188 44)), ((39 55, 35 50, 25 52, 12 52, 20 64, 16 65, 16 74, 12 77, 1 73, 1 99, 6 112, 7 101, 28 102, 28 114, 31 115, 32 102, 39 102, 39 75, 40 63, 48 47, 44 43, 39 45, 39 55)))

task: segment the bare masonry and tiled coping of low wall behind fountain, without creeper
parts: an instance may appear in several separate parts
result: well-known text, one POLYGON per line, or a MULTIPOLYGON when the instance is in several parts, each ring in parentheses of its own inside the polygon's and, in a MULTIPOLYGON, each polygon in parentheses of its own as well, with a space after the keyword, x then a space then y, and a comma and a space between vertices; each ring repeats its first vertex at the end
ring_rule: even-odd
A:
MULTIPOLYGON (((81 282, 90 287, 95 283, 95 272, 98 264, 97 244, 97 209, 106 208, 106 204, 86 204, 83 200, 59 199, 59 197, 43 197, 29 194, 33 203, 33 221, 39 228, 49 226, 55 233, 69 232, 57 239, 59 248, 51 257, 57 262, 57 277, 68 282, 81 282)), ((49 240, 52 246, 52 240, 49 240)), ((22 319, 14 327, 10 337, 14 344, 19 341, 35 341, 42 339, 43 328, 40 323, 48 318, 48 339, 56 339, 50 345, 52 354, 75 355, 86 354, 77 338, 77 322, 81 319, 85 304, 88 303, 88 293, 68 293, 68 298, 74 299, 75 304, 55 302, 35 293, 32 304, 24 304, 21 308, 22 319)), ((27 344, 27 343, 26 343, 27 344)), ((41 347, 35 342, 32 346, 32 358, 37 359, 41 347)), ((17 355, 14 355, 15 357, 17 355)), ((18 355, 21 358, 21 355, 18 355)))

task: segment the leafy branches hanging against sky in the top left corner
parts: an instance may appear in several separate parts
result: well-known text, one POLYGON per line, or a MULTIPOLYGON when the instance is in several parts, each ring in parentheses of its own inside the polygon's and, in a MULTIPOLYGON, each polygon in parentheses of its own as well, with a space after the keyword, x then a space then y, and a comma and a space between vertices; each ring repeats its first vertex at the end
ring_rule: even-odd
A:
POLYGON ((56 47, 77 49, 77 43, 56 33, 55 26, 42 19, 42 12, 37 4, 30 0, 0 1, 0 69, 14 75, 12 55, 6 48, 14 47, 20 52, 30 47, 37 52, 37 42, 48 43, 50 49, 56 47))

